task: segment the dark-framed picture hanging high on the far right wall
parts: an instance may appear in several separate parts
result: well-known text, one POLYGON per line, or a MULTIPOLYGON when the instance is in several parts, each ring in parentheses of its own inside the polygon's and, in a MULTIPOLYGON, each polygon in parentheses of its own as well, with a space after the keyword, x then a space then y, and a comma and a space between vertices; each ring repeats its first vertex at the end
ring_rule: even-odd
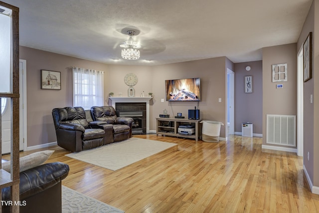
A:
POLYGON ((312 66, 313 66, 313 33, 310 32, 304 42, 304 82, 312 78, 312 66))

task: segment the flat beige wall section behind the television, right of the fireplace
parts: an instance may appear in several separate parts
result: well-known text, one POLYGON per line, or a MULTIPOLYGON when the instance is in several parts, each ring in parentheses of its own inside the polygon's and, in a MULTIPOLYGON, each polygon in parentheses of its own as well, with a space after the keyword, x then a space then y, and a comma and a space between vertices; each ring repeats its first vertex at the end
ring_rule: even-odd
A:
MULTIPOLYGON (((196 106, 200 110, 200 118, 226 123, 226 57, 173 63, 153 67, 153 91, 155 93, 153 118, 158 117, 166 109, 168 114, 175 116, 181 112, 188 116, 188 109, 196 106), (198 102, 168 102, 165 100, 164 80, 178 78, 200 78, 201 101, 198 102), (160 99, 164 98, 161 103, 160 99), (222 102, 218 102, 222 98, 222 102)), ((155 120, 151 127, 155 130, 155 120)), ((220 136, 225 137, 225 126, 222 126, 220 136)))

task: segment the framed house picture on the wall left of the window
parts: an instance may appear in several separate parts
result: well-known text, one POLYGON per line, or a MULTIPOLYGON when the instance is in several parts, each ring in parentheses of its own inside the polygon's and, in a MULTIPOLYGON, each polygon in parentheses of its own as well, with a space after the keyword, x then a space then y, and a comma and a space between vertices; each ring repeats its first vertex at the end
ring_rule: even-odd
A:
POLYGON ((61 72, 41 69, 41 89, 61 89, 61 72))

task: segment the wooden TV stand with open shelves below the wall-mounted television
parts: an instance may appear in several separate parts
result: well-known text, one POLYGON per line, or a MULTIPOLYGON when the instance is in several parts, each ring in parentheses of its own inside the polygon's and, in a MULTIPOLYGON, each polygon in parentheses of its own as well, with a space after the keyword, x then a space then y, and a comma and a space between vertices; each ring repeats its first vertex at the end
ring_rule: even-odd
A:
POLYGON ((198 141, 201 137, 201 120, 189 120, 184 118, 156 118, 156 135, 168 135, 182 138, 193 138, 198 141), (195 126, 195 132, 192 135, 179 134, 178 127, 191 125, 195 126))

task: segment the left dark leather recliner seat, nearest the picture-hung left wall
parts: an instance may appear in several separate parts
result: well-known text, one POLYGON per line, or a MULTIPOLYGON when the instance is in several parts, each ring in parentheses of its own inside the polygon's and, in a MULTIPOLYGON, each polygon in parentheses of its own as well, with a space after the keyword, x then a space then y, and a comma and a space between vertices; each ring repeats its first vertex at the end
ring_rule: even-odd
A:
POLYGON ((52 116, 60 147, 80 152, 104 145, 104 130, 90 127, 82 107, 54 108, 52 116))

